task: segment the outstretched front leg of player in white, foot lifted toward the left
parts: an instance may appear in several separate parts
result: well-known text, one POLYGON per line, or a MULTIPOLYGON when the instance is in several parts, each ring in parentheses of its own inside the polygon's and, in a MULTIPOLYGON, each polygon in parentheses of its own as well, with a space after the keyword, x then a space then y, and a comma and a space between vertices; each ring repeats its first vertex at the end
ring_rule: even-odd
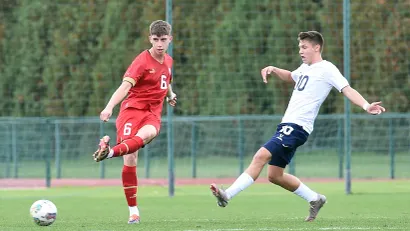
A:
POLYGON ((245 172, 242 173, 229 188, 223 190, 218 188, 216 184, 211 184, 210 189, 212 194, 217 198, 218 206, 226 207, 230 199, 252 185, 270 158, 270 152, 262 147, 253 156, 252 162, 245 172))

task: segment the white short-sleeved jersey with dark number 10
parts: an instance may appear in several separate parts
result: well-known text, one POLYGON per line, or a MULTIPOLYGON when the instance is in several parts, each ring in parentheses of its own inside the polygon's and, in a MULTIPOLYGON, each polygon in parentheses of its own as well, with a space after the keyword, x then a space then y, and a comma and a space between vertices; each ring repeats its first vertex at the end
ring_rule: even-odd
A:
POLYGON ((300 65, 292 72, 292 79, 296 84, 282 123, 300 125, 310 134, 319 108, 332 87, 341 92, 349 83, 339 69, 326 60, 300 65))

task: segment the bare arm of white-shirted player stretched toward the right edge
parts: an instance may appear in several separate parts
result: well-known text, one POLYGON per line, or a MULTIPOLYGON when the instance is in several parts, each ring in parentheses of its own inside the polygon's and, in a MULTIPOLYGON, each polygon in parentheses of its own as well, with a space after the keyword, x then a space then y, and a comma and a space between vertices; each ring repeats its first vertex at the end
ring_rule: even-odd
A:
POLYGON ((342 92, 352 103, 362 107, 369 114, 378 115, 386 111, 386 109, 381 106, 382 102, 369 104, 359 92, 350 86, 343 88, 342 92))

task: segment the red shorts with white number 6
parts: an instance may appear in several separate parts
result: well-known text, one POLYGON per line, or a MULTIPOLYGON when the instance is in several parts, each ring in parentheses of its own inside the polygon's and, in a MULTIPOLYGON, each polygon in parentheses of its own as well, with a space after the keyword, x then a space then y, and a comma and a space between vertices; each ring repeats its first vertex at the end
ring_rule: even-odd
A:
POLYGON ((135 136, 145 125, 152 125, 157 129, 157 134, 161 128, 161 116, 152 113, 150 110, 126 108, 117 117, 117 143, 135 136))

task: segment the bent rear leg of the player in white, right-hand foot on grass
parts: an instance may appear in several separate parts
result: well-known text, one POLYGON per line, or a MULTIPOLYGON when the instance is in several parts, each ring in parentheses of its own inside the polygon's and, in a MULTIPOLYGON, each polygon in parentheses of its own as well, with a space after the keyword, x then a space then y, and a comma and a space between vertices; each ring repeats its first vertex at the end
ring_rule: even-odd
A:
POLYGON ((284 170, 284 167, 269 165, 269 181, 281 186, 282 188, 290 192, 293 192, 294 194, 309 202, 309 215, 306 217, 305 221, 313 221, 319 213, 319 210, 326 203, 326 197, 311 190, 297 177, 291 174, 284 173, 284 170))

